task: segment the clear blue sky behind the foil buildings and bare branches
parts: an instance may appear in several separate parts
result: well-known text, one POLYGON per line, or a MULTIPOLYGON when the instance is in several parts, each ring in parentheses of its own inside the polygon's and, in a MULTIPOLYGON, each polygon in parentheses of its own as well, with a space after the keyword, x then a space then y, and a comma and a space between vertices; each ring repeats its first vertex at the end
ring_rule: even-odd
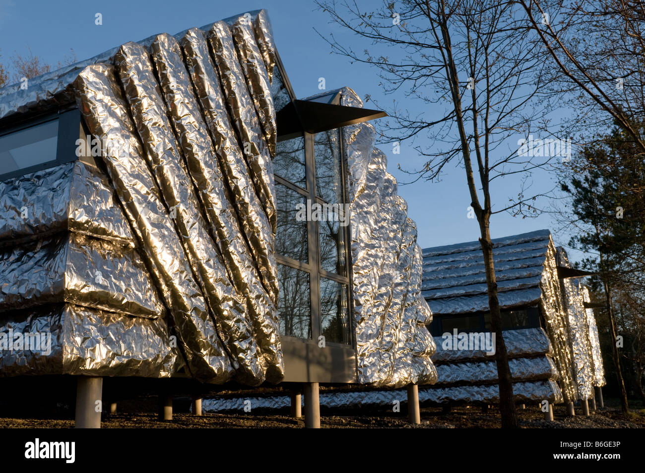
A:
MULTIPOLYGON (((299 97, 320 92, 319 77, 324 77, 326 88, 331 90, 350 86, 361 97, 370 94, 391 103, 379 87, 375 71, 368 66, 350 65, 345 57, 330 54, 330 46, 315 32, 330 32, 343 41, 356 41, 355 37, 329 23, 326 13, 317 10, 313 1, 279 2, 271 0, 239 1, 166 1, 137 2, 112 0, 110 2, 65 1, 59 2, 0 0, 0 61, 7 63, 14 51, 26 54, 30 47, 33 54, 47 63, 57 64, 74 50, 77 60, 92 57, 126 41, 137 41, 162 32, 175 34, 192 26, 201 26, 247 10, 266 8, 269 12, 275 42, 290 81, 299 97), (154 6, 151 10, 150 6, 154 6), (103 15, 103 25, 95 25, 95 14, 103 15)), ((370 106, 368 104, 367 106, 370 106)), ((378 121, 375 121, 378 129, 378 121)), ((419 143, 417 143, 419 144, 419 143)), ((392 145, 381 146, 388 155, 388 170, 399 183, 410 180, 399 170, 411 170, 422 165, 423 160, 406 143, 401 154, 392 154, 392 145)), ((550 186, 548 176, 540 176, 537 186, 550 186)), ((499 205, 516 194, 517 183, 500 181, 493 192, 499 205)), ((417 222, 418 243, 422 248, 471 241, 479 236, 475 219, 468 219, 466 208, 470 205, 464 171, 452 166, 439 183, 419 181, 400 185, 399 195, 408 201, 408 215, 417 222)), ((554 225, 549 216, 522 219, 508 214, 498 214, 491 219, 491 235, 508 236, 530 232, 554 225)), ((556 243, 566 245, 568 237, 555 236, 556 243)), ((577 259, 570 251, 571 259, 577 259)))

